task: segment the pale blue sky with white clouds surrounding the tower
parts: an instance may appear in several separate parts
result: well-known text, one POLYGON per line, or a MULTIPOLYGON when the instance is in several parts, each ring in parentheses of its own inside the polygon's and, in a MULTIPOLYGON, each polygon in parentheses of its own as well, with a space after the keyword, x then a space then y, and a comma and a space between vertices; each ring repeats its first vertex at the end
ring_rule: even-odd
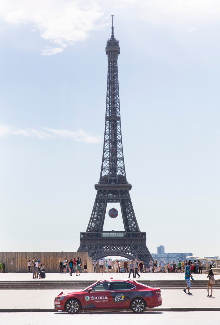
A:
MULTIPOLYGON (((0 250, 79 247, 101 168, 112 14, 125 168, 147 246, 219 255, 214 0, 0 0, 0 250)), ((106 216, 111 229, 123 229, 120 211, 106 216)))

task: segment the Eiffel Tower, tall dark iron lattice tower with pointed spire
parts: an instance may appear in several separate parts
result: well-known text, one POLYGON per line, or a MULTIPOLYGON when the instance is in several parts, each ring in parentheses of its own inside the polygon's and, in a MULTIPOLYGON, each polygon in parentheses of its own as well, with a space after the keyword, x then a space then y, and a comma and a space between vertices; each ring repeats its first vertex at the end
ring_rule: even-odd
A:
POLYGON ((117 60, 119 42, 112 34, 107 40, 105 53, 108 57, 105 133, 100 179, 95 184, 95 203, 86 232, 80 232, 78 252, 88 252, 98 260, 105 256, 121 256, 144 261, 152 259, 146 246, 146 232, 141 232, 134 214, 127 182, 121 136, 121 117, 118 87, 117 60), (119 202, 124 223, 122 231, 103 231, 107 203, 119 202))

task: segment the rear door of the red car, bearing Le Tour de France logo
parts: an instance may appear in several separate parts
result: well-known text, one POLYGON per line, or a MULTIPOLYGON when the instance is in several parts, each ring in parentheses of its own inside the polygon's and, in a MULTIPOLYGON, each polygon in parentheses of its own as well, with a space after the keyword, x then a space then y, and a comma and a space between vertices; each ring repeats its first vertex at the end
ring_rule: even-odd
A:
POLYGON ((112 281, 109 302, 111 307, 129 308, 136 286, 127 281, 112 281))

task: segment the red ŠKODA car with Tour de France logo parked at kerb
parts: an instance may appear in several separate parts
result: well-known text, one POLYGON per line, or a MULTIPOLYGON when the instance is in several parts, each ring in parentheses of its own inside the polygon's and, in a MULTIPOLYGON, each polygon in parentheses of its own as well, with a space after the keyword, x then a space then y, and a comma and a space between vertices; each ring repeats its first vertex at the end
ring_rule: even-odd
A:
POLYGON ((131 309, 142 313, 146 307, 162 305, 160 289, 135 280, 97 281, 78 292, 63 293, 55 298, 55 309, 76 314, 81 309, 131 309))

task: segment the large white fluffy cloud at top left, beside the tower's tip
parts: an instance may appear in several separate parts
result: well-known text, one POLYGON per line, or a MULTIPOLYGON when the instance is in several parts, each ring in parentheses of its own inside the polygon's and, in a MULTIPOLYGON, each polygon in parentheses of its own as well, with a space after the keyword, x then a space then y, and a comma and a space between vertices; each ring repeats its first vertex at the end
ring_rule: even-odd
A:
POLYGON ((60 53, 73 42, 85 40, 89 32, 103 28, 97 1, 86 0, 0 0, 0 19, 9 24, 31 23, 31 30, 55 46, 46 46, 42 55, 60 53))

